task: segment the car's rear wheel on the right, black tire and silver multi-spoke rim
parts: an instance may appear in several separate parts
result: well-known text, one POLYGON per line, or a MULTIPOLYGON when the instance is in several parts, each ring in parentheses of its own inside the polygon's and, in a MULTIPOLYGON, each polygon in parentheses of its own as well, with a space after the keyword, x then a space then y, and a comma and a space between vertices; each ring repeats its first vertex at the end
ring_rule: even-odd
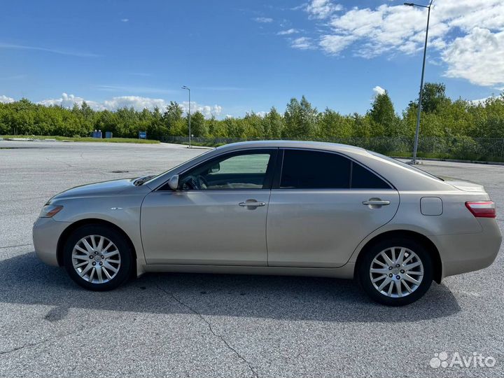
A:
POLYGON ((360 259, 358 279, 382 304, 402 306, 418 300, 433 280, 430 254, 411 239, 393 238, 372 245, 360 259))

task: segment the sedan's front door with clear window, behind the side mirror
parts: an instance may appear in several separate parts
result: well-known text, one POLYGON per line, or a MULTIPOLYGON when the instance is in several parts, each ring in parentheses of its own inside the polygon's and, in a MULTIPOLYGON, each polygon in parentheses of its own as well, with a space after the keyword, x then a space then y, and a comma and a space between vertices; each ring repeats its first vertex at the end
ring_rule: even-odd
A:
POLYGON ((267 265, 266 216, 277 149, 212 158, 181 174, 179 190, 146 196, 148 264, 267 265))

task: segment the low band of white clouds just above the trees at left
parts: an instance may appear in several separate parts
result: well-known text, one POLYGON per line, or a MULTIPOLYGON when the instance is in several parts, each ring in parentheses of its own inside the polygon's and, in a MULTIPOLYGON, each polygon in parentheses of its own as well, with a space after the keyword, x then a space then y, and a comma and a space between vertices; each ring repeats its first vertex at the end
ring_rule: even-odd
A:
MULTIPOLYGON (((0 97, 3 99, 2 96, 0 97)), ((10 99, 10 97, 5 97, 6 99, 10 99)), ((11 99, 14 101, 14 99, 11 99)), ((77 104, 81 106, 83 102, 86 102, 94 110, 109 110, 115 111, 121 108, 133 108, 137 111, 141 111, 142 109, 153 110, 155 107, 159 109, 165 109, 165 107, 169 104, 169 102, 165 101, 165 99, 153 99, 151 97, 141 97, 141 96, 119 96, 112 97, 111 99, 106 99, 104 102, 95 102, 90 100, 85 100, 83 97, 74 96, 73 94, 63 93, 62 97, 59 99, 44 99, 38 104, 42 104, 45 106, 57 105, 64 106, 65 108, 73 107, 73 104, 77 104)), ((6 101, 8 102, 8 101, 6 101)), ((188 111, 189 102, 182 102, 181 107, 184 112, 188 111)), ((200 111, 204 114, 205 117, 209 117, 212 114, 214 116, 220 116, 222 112, 222 107, 219 105, 202 105, 197 102, 191 102, 191 113, 195 111, 200 111)))

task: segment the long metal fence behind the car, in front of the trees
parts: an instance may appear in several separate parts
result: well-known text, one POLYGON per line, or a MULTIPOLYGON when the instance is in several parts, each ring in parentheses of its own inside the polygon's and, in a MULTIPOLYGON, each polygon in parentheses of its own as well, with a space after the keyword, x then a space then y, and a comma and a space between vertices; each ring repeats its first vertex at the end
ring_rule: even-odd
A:
MULTIPOLYGON (((193 144, 200 146, 221 146, 223 144, 246 141, 240 138, 202 138, 193 137, 193 144)), ((313 140, 313 139, 312 139, 313 140)), ((188 137, 165 137, 168 143, 188 144, 188 137)), ((322 141, 322 140, 321 140, 322 141)), ((385 155, 410 157, 413 151, 413 138, 379 137, 379 138, 339 138, 324 139, 332 143, 349 144, 376 151, 385 155)), ((504 162, 503 138, 471 137, 420 137, 419 158, 441 158, 460 160, 479 160, 504 162)))

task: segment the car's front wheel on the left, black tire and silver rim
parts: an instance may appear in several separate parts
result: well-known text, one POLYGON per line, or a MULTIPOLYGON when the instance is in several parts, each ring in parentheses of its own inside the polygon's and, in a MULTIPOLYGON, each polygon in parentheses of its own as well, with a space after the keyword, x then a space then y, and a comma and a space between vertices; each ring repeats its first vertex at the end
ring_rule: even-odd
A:
POLYGON ((64 245, 66 272, 90 290, 111 290, 130 276, 131 247, 123 235, 106 225, 84 225, 64 245))

